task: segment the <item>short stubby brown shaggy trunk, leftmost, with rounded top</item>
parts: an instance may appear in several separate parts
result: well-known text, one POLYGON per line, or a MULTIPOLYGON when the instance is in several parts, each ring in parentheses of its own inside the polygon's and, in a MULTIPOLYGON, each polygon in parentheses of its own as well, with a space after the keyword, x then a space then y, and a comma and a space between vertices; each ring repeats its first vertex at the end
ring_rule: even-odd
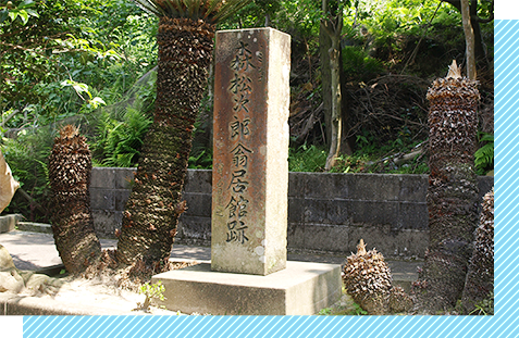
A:
POLYGON ((90 211, 91 154, 86 139, 72 125, 60 130, 49 158, 52 233, 69 273, 96 263, 101 245, 90 211))

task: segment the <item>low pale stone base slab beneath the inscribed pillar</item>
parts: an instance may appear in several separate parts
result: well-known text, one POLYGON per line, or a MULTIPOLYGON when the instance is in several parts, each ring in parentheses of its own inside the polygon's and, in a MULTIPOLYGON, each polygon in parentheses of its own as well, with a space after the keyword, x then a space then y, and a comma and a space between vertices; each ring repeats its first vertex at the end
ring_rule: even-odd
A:
POLYGON ((155 275, 169 310, 212 315, 311 315, 341 299, 341 265, 286 262, 267 276, 212 272, 209 263, 155 275))

